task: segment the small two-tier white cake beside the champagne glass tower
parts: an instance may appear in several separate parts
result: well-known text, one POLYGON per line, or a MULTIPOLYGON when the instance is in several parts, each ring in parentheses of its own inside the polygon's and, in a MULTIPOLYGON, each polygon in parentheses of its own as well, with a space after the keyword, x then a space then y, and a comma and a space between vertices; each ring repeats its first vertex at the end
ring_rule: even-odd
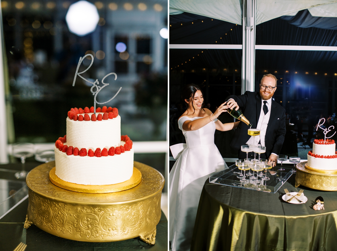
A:
POLYGON ((334 140, 315 139, 308 152, 308 166, 319 170, 337 170, 337 152, 334 140))

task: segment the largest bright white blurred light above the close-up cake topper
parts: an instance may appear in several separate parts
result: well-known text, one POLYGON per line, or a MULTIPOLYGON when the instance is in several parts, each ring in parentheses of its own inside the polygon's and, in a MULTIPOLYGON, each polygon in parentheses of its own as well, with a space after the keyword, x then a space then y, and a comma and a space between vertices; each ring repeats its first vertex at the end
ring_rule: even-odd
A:
POLYGON ((96 29, 99 15, 95 5, 81 0, 70 5, 65 20, 70 32, 85 36, 96 29))

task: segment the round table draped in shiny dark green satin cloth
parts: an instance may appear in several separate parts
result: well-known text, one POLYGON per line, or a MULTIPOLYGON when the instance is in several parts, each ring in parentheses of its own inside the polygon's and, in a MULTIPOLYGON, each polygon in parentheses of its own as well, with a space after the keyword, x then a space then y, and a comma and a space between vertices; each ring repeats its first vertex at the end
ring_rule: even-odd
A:
POLYGON ((276 192, 209 183, 203 187, 191 250, 336 250, 337 191, 295 185, 295 175, 276 192), (281 197, 304 189, 308 201, 290 204, 281 197), (325 210, 315 211, 322 196, 325 210))

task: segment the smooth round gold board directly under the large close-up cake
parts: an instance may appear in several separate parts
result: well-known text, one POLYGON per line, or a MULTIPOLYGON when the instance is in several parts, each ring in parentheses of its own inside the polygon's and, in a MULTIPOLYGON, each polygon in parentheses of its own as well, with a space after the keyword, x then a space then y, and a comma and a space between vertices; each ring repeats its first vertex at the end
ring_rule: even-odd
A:
POLYGON ((130 189, 138 185, 142 181, 142 173, 135 167, 133 167, 133 173, 129 180, 113 184, 113 185, 81 185, 61 180, 55 174, 56 168, 52 168, 49 172, 49 179, 54 184, 61 188, 75 191, 75 192, 88 192, 88 193, 109 193, 119 192, 130 189))

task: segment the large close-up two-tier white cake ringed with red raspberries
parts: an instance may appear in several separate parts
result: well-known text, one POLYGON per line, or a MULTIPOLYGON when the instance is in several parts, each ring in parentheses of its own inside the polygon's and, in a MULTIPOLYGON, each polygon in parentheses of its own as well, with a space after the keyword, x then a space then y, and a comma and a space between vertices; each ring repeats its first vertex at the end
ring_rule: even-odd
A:
POLYGON ((66 135, 55 143, 55 174, 83 185, 124 182, 133 173, 132 141, 121 136, 117 108, 71 108, 66 135))

